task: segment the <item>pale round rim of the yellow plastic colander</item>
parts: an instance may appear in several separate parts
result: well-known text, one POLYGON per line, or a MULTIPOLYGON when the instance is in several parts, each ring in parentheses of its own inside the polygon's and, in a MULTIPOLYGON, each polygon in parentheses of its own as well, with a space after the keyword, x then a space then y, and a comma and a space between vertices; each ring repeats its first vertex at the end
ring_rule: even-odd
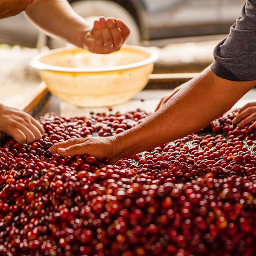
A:
POLYGON ((158 53, 155 50, 148 49, 142 46, 132 46, 132 45, 124 45, 122 49, 137 49, 150 54, 150 57, 143 61, 134 62, 131 64, 120 65, 115 67, 104 67, 104 68, 68 68, 68 67, 60 67, 60 66, 53 66, 49 64, 42 63, 40 61, 41 58, 61 51, 66 51, 70 49, 77 49, 76 47, 62 47, 58 49, 49 50, 43 53, 38 54, 35 56, 32 61, 30 62, 31 67, 37 69, 39 71, 56 71, 56 72, 68 72, 68 73, 100 73, 100 72, 108 72, 108 71, 120 71, 126 69, 133 69, 141 66, 146 66, 148 64, 154 63, 158 58, 158 53))

